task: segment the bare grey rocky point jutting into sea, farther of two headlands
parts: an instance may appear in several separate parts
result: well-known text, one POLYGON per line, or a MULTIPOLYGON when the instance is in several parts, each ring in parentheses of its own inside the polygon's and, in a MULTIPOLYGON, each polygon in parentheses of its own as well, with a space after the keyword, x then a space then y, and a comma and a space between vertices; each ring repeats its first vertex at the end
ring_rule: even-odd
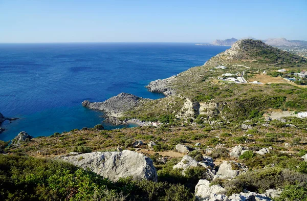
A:
POLYGON ((169 78, 151 81, 145 87, 148 88, 149 92, 163 93, 165 96, 170 96, 176 93, 170 87, 171 82, 174 81, 176 78, 177 76, 171 76, 169 78))

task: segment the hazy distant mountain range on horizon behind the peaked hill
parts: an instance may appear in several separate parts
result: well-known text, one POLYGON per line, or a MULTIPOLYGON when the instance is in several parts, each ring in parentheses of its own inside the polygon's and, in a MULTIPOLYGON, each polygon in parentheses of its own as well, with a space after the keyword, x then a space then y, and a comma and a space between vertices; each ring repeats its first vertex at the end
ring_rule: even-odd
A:
MULTIPOLYGON (((253 37, 247 37, 243 39, 254 39, 253 37)), ((211 42, 214 46, 232 46, 234 42, 238 41, 236 38, 230 38, 226 40, 214 40, 211 42)), ((292 46, 307 46, 307 41, 304 40, 287 40, 286 38, 270 38, 267 40, 261 40, 265 42, 266 44, 269 44, 270 46, 274 47, 292 47, 292 46)))

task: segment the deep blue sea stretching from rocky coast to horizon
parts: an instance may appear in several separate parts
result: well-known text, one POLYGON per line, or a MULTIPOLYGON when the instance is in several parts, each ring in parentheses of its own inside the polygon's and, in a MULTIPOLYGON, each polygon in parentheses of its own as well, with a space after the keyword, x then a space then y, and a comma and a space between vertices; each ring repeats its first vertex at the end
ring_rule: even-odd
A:
MULTIPOLYGON (((158 99, 145 88, 229 47, 194 43, 0 43, 0 140, 20 131, 31 136, 94 127, 103 114, 82 107, 121 92, 158 99)), ((118 128, 104 124, 105 128, 118 128)), ((130 125, 134 126, 134 125, 130 125)))

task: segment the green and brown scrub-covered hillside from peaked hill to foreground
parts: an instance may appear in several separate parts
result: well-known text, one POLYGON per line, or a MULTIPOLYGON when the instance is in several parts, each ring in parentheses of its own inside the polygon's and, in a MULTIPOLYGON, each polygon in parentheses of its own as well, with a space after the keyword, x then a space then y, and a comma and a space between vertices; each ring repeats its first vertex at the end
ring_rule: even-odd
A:
POLYGON ((307 61, 261 41, 240 40, 203 66, 167 82, 164 87, 173 90, 173 94, 146 101, 121 117, 161 125, 114 130, 97 125, 33 138, 18 146, 0 142, 4 153, 0 154, 0 197, 209 200, 195 193, 200 181, 207 180, 210 187, 206 188, 218 186, 224 190, 223 196, 247 191, 262 195, 275 190, 276 196, 260 200, 307 200, 307 118, 297 116, 307 110, 307 88, 274 79, 281 68, 307 70, 307 61), (215 69, 218 65, 226 69, 215 69), (237 72, 248 81, 255 77, 272 81, 237 84, 217 79, 237 72), (134 146, 136 141, 142 144, 134 146), (151 142, 154 144, 149 147, 151 142), (176 145, 185 146, 187 152, 176 145), (238 147, 242 149, 234 156, 234 148, 238 147), (158 181, 130 177, 111 181, 59 160, 72 152, 120 151, 119 148, 149 157, 157 169, 158 181), (186 155, 198 165, 182 161, 186 155), (205 159, 212 159, 214 166, 199 165, 205 159), (231 163, 229 171, 238 174, 230 178, 217 176, 225 162, 231 163), (185 168, 174 168, 179 163, 185 168))

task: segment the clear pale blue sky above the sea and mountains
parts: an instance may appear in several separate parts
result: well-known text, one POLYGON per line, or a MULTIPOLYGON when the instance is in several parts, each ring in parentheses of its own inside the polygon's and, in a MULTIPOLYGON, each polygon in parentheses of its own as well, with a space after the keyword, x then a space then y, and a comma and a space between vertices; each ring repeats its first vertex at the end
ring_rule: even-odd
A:
POLYGON ((0 0, 0 42, 307 40, 307 0, 0 0))

